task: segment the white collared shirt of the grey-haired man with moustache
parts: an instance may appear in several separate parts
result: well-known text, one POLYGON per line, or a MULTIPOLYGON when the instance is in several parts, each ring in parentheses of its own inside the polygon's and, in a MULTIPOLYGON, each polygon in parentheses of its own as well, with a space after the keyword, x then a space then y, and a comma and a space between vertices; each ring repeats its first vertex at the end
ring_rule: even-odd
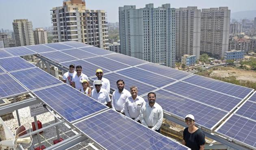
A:
POLYGON ((138 121, 140 110, 145 104, 146 102, 142 97, 137 96, 136 99, 133 100, 132 96, 130 96, 124 103, 124 113, 129 118, 135 118, 135 121, 138 121))

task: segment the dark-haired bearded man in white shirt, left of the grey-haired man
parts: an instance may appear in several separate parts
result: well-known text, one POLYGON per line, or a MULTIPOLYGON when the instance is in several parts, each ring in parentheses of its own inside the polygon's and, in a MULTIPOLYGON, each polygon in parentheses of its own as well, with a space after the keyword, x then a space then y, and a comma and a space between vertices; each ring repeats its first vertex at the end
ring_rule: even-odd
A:
POLYGON ((112 94, 112 109, 117 112, 124 113, 124 102, 125 100, 131 96, 130 92, 124 89, 124 81, 117 80, 117 88, 112 94))

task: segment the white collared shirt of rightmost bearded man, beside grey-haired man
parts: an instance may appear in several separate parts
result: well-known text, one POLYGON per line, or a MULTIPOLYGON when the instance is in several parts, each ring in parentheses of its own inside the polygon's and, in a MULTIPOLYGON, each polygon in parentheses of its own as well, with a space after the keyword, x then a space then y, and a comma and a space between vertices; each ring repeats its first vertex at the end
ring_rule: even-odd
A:
POLYGON ((152 130, 158 130, 163 123, 163 108, 156 102, 152 108, 147 103, 141 108, 139 120, 142 125, 152 127, 152 130))

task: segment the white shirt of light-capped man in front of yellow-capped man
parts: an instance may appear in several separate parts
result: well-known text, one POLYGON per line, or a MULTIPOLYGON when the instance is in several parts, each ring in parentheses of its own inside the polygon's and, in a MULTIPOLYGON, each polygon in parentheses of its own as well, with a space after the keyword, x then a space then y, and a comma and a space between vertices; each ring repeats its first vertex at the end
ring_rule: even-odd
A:
POLYGON ((108 95, 108 91, 106 91, 105 89, 102 89, 102 88, 100 88, 99 93, 97 92, 96 89, 93 89, 91 91, 91 97, 104 105, 108 104, 108 102, 111 101, 111 99, 108 95))

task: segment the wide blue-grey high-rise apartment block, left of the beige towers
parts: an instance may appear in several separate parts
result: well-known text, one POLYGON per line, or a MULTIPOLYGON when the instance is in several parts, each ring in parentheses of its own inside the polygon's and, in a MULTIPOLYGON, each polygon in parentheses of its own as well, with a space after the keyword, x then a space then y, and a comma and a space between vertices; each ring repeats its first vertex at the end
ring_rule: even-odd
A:
POLYGON ((119 7, 119 30, 122 54, 175 66, 175 8, 170 4, 119 7))

